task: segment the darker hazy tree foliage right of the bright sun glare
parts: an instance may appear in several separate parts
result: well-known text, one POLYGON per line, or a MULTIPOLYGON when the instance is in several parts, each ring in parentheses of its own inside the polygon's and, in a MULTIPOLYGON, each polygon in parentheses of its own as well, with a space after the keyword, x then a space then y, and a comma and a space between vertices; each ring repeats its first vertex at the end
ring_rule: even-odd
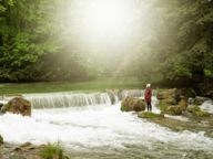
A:
POLYGON ((211 76, 213 1, 155 0, 153 6, 156 8, 153 19, 159 22, 153 26, 155 36, 143 42, 148 49, 141 51, 151 57, 143 61, 144 54, 138 56, 140 70, 136 74, 151 77, 161 74, 164 80, 211 76))

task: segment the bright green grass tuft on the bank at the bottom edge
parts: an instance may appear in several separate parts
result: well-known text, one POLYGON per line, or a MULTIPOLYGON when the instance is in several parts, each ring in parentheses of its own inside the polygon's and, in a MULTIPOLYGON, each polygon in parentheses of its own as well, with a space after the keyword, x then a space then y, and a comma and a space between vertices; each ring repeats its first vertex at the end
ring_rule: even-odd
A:
POLYGON ((59 145, 49 144, 41 151, 40 156, 43 159, 54 159, 55 157, 58 159, 63 159, 63 151, 59 145))

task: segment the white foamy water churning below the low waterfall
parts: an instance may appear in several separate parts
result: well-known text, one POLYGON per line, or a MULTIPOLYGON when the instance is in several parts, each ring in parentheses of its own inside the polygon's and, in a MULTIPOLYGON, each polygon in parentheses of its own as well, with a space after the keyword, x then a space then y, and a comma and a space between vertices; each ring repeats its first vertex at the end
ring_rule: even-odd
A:
POLYGON ((0 134, 13 144, 61 142, 72 149, 93 147, 124 148, 124 145, 154 147, 156 142, 179 149, 212 151, 213 139, 203 132, 173 132, 131 113, 120 104, 81 108, 37 109, 32 117, 0 116, 0 134))

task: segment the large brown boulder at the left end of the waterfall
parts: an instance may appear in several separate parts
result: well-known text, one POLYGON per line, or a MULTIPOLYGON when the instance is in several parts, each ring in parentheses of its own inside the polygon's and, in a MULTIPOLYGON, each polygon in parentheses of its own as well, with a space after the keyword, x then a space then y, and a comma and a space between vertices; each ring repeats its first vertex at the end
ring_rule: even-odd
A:
POLYGON ((21 114, 22 116, 31 116, 31 104, 22 97, 14 97, 6 104, 2 109, 3 113, 21 114))

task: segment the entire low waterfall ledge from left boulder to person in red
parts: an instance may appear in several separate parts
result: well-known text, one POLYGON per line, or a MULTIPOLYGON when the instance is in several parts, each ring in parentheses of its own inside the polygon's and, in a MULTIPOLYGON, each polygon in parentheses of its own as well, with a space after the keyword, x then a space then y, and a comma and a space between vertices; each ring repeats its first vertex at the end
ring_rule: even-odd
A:
POLYGON ((26 94, 23 97, 38 108, 65 108, 116 104, 125 97, 142 97, 144 91, 109 91, 106 93, 47 93, 26 94))

